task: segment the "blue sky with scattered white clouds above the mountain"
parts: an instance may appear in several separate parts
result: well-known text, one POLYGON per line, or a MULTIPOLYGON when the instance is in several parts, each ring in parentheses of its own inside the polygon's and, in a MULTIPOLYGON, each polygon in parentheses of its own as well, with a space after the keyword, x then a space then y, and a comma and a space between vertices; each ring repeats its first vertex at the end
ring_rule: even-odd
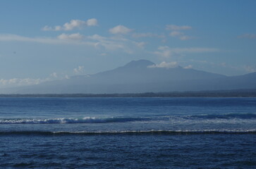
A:
POLYGON ((256 71, 256 1, 1 0, 0 87, 147 59, 223 75, 256 71))

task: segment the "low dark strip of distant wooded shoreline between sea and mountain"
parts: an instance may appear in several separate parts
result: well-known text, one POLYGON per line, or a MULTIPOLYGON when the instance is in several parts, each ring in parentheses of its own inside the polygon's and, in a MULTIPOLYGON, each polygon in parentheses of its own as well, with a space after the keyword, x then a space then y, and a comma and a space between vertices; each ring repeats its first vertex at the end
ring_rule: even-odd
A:
POLYGON ((0 97, 256 97, 256 89, 126 94, 0 94, 0 97))

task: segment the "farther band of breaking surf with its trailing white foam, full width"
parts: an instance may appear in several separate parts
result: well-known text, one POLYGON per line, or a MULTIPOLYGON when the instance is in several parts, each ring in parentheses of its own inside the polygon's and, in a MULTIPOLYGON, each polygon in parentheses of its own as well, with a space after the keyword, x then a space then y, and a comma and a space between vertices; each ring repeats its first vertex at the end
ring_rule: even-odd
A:
POLYGON ((0 119, 1 124, 73 124, 73 123, 255 123, 256 113, 228 113, 228 114, 206 114, 206 115, 170 115, 154 117, 108 117, 108 118, 47 118, 47 119, 30 119, 30 118, 10 118, 0 119))

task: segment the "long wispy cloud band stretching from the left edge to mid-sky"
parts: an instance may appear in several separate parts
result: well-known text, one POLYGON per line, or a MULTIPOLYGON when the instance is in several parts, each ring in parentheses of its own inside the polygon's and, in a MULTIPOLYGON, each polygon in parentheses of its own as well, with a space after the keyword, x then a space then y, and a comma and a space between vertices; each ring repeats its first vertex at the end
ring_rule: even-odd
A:
POLYGON ((106 50, 100 51, 106 53, 108 51, 124 51, 133 54, 136 50, 141 50, 145 46, 145 42, 136 42, 120 36, 102 37, 100 35, 92 35, 85 37, 79 33, 61 34, 58 37, 23 37, 19 35, 1 35, 0 42, 36 42, 42 44, 74 44, 93 46, 96 49, 106 50))

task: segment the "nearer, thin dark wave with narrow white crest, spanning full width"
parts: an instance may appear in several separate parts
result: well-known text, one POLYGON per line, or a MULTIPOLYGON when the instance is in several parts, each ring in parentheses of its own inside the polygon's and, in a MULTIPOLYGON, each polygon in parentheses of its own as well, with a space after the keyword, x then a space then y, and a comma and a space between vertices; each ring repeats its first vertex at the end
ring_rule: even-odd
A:
POLYGON ((49 132, 49 131, 8 131, 0 135, 189 135, 189 134, 256 134, 256 130, 147 130, 147 131, 109 131, 109 132, 49 132))

